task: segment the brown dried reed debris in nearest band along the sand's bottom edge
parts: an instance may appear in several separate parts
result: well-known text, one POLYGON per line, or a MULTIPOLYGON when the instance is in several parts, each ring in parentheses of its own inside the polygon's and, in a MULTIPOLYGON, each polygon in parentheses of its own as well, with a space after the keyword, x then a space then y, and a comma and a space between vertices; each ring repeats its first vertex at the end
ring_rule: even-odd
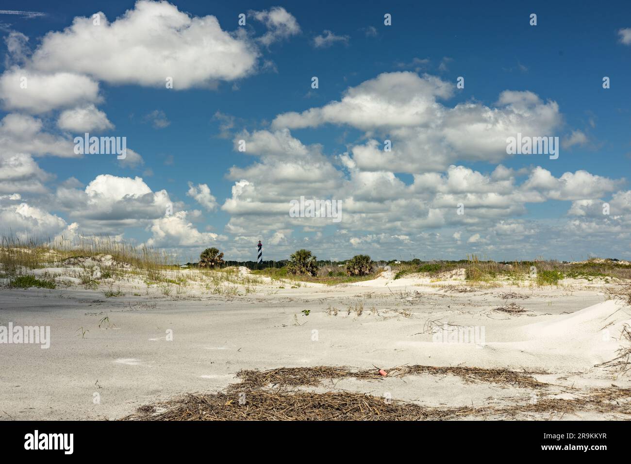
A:
POLYGON ((599 388, 575 398, 537 398, 509 407, 423 407, 350 391, 244 390, 191 394, 143 406, 121 420, 450 420, 501 419, 544 413, 597 412, 631 416, 631 389, 599 388))

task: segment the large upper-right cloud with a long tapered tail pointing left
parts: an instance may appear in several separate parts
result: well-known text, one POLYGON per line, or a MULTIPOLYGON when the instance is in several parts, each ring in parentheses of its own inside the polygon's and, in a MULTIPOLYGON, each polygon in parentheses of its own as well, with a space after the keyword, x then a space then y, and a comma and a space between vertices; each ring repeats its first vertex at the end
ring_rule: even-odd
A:
POLYGON ((337 102, 280 114, 273 127, 328 123, 362 129, 369 140, 350 147, 358 168, 418 173, 462 160, 500 162, 508 156, 508 137, 547 136, 562 124, 558 104, 532 92, 505 90, 492 106, 441 104, 453 90, 452 83, 428 74, 383 73, 349 88, 337 102), (391 152, 384 151, 386 139, 391 152))

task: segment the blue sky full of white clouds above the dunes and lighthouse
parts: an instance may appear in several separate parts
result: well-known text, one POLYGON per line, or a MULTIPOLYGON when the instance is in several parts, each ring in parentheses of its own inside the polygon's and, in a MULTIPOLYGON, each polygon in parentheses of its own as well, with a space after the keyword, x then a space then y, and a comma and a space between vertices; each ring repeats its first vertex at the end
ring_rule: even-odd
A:
POLYGON ((0 232, 180 262, 259 240, 264 259, 630 259, 630 13, 0 0, 0 232), (86 133, 124 158, 82 153, 86 133))

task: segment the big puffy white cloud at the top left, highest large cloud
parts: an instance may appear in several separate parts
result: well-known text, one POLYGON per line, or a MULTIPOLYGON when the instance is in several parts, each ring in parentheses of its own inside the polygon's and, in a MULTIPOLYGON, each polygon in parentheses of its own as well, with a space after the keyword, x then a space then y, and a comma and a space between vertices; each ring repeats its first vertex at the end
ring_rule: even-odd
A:
POLYGON ((259 53, 244 33, 221 29, 215 16, 189 16, 166 1, 139 0, 110 22, 101 12, 76 17, 62 32, 47 33, 32 66, 45 73, 70 71, 112 84, 208 86, 252 73, 259 53))

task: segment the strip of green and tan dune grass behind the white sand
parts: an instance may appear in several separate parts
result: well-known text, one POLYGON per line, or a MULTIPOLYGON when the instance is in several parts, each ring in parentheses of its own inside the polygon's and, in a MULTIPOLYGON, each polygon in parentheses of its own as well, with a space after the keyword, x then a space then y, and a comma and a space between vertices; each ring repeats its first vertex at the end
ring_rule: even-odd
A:
MULTIPOLYGON (((181 290, 180 287, 185 287, 189 280, 193 280, 202 282, 208 290, 218 294, 237 294, 240 290, 233 290, 235 286, 243 286, 247 294, 256 291, 256 287, 263 283, 262 277, 269 277, 280 285, 290 287, 300 287, 300 282, 338 285, 372 280, 379 277, 384 270, 381 266, 369 275, 348 276, 343 265, 331 263, 321 265, 317 275, 310 277, 292 275, 288 273, 286 266, 254 270, 250 274, 240 272, 235 266, 216 269, 193 267, 182 271, 177 262, 177 256, 160 249, 144 245, 134 246, 110 237, 81 238, 72 242, 63 239, 56 242, 36 239, 21 241, 15 236, 6 235, 0 239, 0 277, 13 279, 28 275, 34 269, 72 265, 75 268, 83 268, 76 271, 72 277, 79 278, 81 285, 86 288, 95 288, 100 281, 107 281, 110 278, 129 278, 135 275, 146 280, 146 285, 170 284, 175 285, 178 291, 181 290), (113 263, 103 263, 100 266, 100 273, 95 277, 93 263, 90 261, 91 264, 88 266, 83 265, 83 262, 87 258, 98 262, 103 256, 111 256, 113 263), (227 289, 227 285, 231 289, 227 289)), ((413 273, 425 273, 437 278, 447 271, 463 269, 466 282, 471 285, 497 285, 497 282, 504 281, 514 285, 535 283, 543 286, 560 285, 564 278, 582 279, 587 282, 601 279, 605 283, 615 283, 614 279, 631 279, 631 265, 611 259, 589 259, 580 263, 536 259, 507 263, 480 259, 476 254, 471 254, 467 255, 466 259, 458 261, 413 259, 398 264, 391 261, 389 265, 394 271, 395 280, 413 273)), ((50 280, 50 283, 54 282, 50 280)))

